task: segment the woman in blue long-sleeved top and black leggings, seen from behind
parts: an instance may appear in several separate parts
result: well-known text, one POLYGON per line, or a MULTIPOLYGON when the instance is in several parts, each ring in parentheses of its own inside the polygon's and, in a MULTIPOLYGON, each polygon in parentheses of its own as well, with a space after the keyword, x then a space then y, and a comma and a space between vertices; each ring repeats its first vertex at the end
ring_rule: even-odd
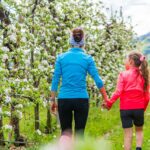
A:
POLYGON ((62 135, 72 135, 72 120, 75 121, 75 133, 83 135, 89 111, 89 95, 86 90, 87 73, 94 79, 104 100, 107 94, 95 62, 84 50, 84 32, 73 29, 70 37, 72 48, 57 57, 51 86, 51 108, 56 110, 55 96, 60 78, 62 85, 58 94, 58 114, 62 135), (74 117, 73 117, 74 116, 74 117))

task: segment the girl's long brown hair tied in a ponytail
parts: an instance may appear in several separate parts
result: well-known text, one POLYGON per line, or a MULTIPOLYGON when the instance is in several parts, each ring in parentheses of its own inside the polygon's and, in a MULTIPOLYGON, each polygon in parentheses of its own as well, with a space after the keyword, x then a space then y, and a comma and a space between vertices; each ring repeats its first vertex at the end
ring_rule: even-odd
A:
POLYGON ((146 91, 149 85, 148 62, 145 60, 145 58, 141 60, 141 57, 144 57, 143 54, 138 52, 132 52, 129 54, 129 59, 132 59, 134 61, 135 67, 139 67, 140 69, 140 72, 145 80, 144 90, 146 91))

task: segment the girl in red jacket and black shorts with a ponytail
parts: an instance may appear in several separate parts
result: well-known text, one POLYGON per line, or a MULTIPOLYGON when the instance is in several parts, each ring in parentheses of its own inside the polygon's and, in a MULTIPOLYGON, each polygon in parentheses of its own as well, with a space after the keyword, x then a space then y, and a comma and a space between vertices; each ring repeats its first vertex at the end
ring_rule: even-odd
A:
POLYGON ((110 109, 120 98, 120 116, 124 129, 124 149, 131 150, 133 125, 136 130, 136 150, 142 150, 144 110, 149 101, 149 72, 145 56, 138 52, 128 55, 126 71, 119 74, 117 88, 106 103, 110 109))

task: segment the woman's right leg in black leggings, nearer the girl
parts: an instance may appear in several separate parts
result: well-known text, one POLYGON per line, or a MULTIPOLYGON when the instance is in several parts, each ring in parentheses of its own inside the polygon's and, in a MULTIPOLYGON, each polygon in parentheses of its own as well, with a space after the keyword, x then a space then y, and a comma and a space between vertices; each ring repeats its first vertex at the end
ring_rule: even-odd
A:
POLYGON ((89 112, 88 99, 79 99, 75 101, 74 105, 74 119, 75 119, 75 134, 78 136, 84 135, 89 112))

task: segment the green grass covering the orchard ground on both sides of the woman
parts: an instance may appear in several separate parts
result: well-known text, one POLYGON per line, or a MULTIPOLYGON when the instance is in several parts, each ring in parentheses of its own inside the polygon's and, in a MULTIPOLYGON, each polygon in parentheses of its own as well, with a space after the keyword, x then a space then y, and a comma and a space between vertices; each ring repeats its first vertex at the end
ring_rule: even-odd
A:
MULTIPOLYGON (((22 119, 20 122, 21 134, 28 138, 29 142, 34 142, 29 146, 27 150, 38 150, 40 145, 50 143, 59 137, 60 130, 57 129, 53 134, 38 135, 34 131, 34 115, 33 107, 29 107, 25 111, 26 119, 22 119)), ((149 150, 150 147, 150 109, 145 113, 145 126, 144 126, 144 144, 143 149, 149 150)), ((5 119, 4 122, 8 122, 5 119)), ((44 132, 46 124, 46 108, 40 109, 40 130, 44 132)), ((56 120, 53 117, 53 126, 56 126, 56 120)), ((5 138, 6 138, 5 134, 5 138)), ((100 108, 91 107, 89 112, 89 118, 85 130, 85 143, 79 142, 80 148, 78 150, 84 150, 84 145, 88 147, 85 150, 121 150, 123 149, 123 130, 121 127, 119 105, 118 103, 110 111, 102 111, 100 108), (92 147, 90 145, 92 143, 92 147), (104 145, 102 148, 99 145, 104 145), (107 147, 109 145, 109 148, 107 147), (111 145, 111 146, 110 146, 111 145), (81 148, 82 147, 82 148, 81 148), (95 147, 95 149, 94 149, 95 147), (96 147, 98 147, 96 149, 96 147), (111 149, 110 149, 111 147, 111 149)), ((4 148, 3 148, 4 149, 4 148)), ((133 139, 133 149, 135 149, 135 134, 133 139)), ((1 150, 1 148, 0 148, 1 150)))

